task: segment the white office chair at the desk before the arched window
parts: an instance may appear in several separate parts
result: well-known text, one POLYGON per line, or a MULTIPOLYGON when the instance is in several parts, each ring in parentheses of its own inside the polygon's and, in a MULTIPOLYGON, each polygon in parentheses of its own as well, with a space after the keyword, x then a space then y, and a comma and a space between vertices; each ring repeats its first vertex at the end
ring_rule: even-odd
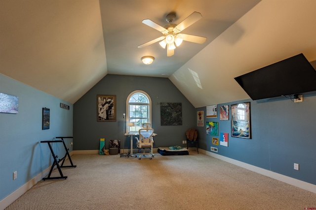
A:
POLYGON ((154 134, 154 129, 152 128, 141 128, 139 129, 139 139, 135 137, 137 140, 136 146, 137 148, 144 149, 143 153, 137 153, 136 156, 139 154, 138 159, 140 160, 142 156, 148 156, 149 159, 152 159, 154 157, 153 155, 153 134, 154 134), (150 149, 150 152, 146 152, 146 148, 150 149))

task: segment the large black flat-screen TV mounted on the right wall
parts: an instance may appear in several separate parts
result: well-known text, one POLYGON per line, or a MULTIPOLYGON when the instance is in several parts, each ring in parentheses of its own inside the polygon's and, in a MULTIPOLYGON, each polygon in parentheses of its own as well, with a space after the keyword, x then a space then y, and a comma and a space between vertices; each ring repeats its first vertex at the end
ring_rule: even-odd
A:
POLYGON ((252 100, 316 91, 316 70, 302 53, 235 80, 252 100))

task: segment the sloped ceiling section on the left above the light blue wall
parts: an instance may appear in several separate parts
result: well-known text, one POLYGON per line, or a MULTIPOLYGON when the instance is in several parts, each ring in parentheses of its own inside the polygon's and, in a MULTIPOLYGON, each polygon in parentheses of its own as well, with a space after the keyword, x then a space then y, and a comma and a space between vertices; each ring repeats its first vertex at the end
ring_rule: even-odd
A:
POLYGON ((0 0, 0 73, 75 103, 107 73, 99 1, 0 0))

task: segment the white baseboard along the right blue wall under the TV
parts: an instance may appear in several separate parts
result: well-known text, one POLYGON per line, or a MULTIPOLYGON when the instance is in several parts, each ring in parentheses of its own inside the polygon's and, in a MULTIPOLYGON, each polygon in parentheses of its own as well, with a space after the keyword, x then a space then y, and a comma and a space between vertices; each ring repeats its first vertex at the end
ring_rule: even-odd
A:
POLYGON ((203 149, 198 149, 198 152, 206 154, 206 155, 209 155, 209 156, 217 158, 217 159, 220 159, 222 161, 234 164, 236 166, 239 166, 241 168, 247 169, 249 171, 253 171, 253 172, 256 172, 258 174, 265 175, 265 176, 268 176, 270 178, 274 178, 276 180, 279 180, 279 181, 282 181, 284 183, 287 183, 287 184, 299 187, 301 189, 310 191, 312 193, 316 193, 316 185, 315 184, 311 184, 311 183, 308 183, 308 182, 305 182, 305 181, 301 181, 299 179, 295 179, 295 178, 292 178, 292 177, 289 177, 289 176, 286 176, 286 175, 277 174, 275 172, 272 172, 272 171, 269 171, 269 170, 266 170, 266 169, 262 169, 262 168, 259 168, 259 167, 256 167, 256 166, 253 166, 253 165, 250 165, 250 164, 247 164, 247 163, 243 163, 243 162, 234 160, 232 158, 228 158, 228 157, 225 157, 225 156, 213 153, 213 152, 209 152, 209 151, 206 151, 206 150, 203 150, 203 149))

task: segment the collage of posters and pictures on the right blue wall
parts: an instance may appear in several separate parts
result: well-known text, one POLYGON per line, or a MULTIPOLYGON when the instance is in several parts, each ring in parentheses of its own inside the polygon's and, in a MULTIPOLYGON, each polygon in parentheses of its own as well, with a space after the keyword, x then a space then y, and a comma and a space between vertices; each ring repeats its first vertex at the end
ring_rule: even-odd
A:
MULTIPOLYGON (((220 106, 220 120, 230 120, 231 112, 231 136, 237 138, 251 139, 250 134, 250 102, 220 106)), ((217 105, 206 106, 206 134, 210 136, 219 136, 212 138, 213 145, 222 145, 228 147, 228 133, 219 134, 219 122, 211 121, 209 118, 217 118, 217 105)), ((197 111, 197 126, 204 127, 204 111, 197 111)))

